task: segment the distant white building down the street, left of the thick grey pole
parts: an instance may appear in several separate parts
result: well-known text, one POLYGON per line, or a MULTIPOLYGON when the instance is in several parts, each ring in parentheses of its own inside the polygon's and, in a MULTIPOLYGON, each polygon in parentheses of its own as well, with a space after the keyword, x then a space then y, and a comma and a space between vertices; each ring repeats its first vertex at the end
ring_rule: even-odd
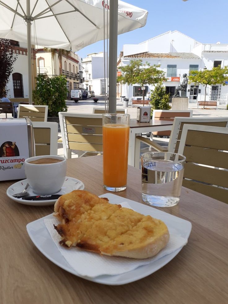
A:
POLYGON ((86 58, 83 58, 82 61, 82 65, 84 68, 83 86, 85 89, 89 91, 93 90, 95 95, 105 94, 105 86, 107 86, 107 69, 108 69, 107 63, 108 63, 107 53, 105 53, 105 58, 104 58, 104 52, 88 54, 86 58), (104 73, 104 59, 105 59, 105 73, 104 73))

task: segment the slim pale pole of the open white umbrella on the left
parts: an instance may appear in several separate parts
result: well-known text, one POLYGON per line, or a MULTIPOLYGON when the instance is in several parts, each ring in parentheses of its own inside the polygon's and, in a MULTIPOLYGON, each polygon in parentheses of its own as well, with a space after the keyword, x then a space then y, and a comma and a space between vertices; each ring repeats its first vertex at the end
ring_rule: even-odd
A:
POLYGON ((30 20, 30 0, 26 0, 26 22, 27 22, 27 48, 28 48, 28 103, 32 101, 32 52, 31 52, 31 20, 30 20))

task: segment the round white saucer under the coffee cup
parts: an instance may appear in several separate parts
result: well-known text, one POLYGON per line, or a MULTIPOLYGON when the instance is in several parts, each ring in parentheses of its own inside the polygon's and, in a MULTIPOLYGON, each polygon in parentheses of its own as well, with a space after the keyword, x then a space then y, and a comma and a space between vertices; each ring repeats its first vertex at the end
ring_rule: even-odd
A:
MULTIPOLYGON (((19 182, 14 183, 7 189, 7 196, 9 196, 12 200, 14 200, 17 203, 24 204, 24 205, 32 205, 32 206, 49 206, 54 205, 56 200, 22 200, 22 198, 16 198, 13 196, 15 193, 22 192, 24 190, 24 187, 28 183, 27 179, 20 180, 19 182)), ((63 187, 58 193, 55 194, 66 194, 73 190, 83 190, 85 188, 84 184, 73 177, 66 176, 66 179, 64 181, 63 187)), ((33 192, 31 187, 28 187, 27 192, 30 194, 30 196, 37 195, 33 192)), ((48 193, 47 193, 48 194, 48 193)))

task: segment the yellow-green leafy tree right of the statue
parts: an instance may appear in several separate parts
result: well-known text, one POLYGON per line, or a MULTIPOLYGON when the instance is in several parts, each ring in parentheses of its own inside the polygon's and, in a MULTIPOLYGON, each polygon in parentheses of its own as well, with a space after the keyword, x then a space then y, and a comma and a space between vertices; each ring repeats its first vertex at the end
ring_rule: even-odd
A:
POLYGON ((225 66, 224 68, 218 66, 211 70, 204 69, 203 71, 191 71, 189 76, 189 82, 205 86, 204 101, 206 101, 207 86, 216 84, 225 86, 225 81, 228 81, 228 66, 225 66))

